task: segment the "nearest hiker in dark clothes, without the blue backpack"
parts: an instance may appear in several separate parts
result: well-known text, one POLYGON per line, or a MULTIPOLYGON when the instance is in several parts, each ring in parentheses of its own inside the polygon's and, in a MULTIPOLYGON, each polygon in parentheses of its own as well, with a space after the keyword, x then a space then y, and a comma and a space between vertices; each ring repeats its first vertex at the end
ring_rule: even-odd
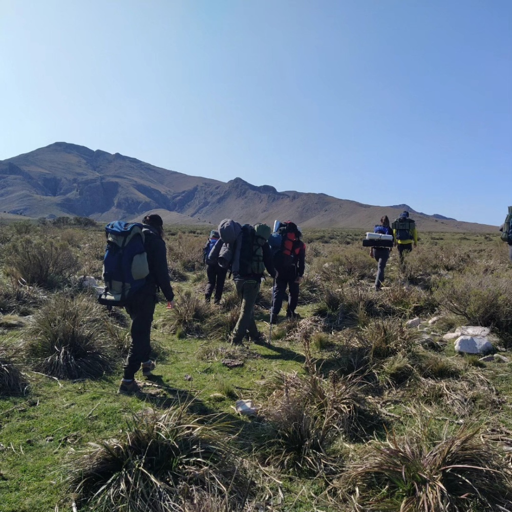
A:
POLYGON ((135 373, 139 371, 141 365, 142 375, 145 377, 150 376, 155 369, 155 361, 150 359, 150 334, 158 288, 169 303, 168 307, 173 308, 175 305, 167 267, 167 251, 162 238, 164 232, 162 218, 157 214, 146 215, 142 224, 149 274, 142 288, 137 290, 125 304, 126 312, 132 319, 132 343, 123 367, 124 375, 118 391, 123 395, 140 391, 135 373))

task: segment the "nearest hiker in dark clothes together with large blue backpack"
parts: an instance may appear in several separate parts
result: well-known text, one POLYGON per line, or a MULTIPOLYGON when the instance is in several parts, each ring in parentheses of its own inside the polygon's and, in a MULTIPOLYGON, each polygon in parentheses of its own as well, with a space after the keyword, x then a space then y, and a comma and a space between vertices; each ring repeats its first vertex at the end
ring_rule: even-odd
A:
POLYGON ((103 261, 105 290, 100 304, 121 306, 132 319, 132 343, 118 393, 140 392, 135 373, 151 376, 155 361, 150 359, 151 324, 157 291, 165 296, 168 308, 174 307, 174 292, 167 267, 167 250, 163 240, 163 221, 159 215, 146 215, 139 223, 112 222, 105 227, 107 247, 103 261))

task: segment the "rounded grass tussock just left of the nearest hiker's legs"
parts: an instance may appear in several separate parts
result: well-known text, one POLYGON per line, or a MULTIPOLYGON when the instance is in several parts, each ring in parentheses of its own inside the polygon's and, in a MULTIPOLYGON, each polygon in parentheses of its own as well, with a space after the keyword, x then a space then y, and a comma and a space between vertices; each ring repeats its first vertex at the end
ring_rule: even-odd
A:
POLYGON ((95 378, 115 364, 104 310, 86 296, 57 295, 33 317, 23 353, 36 371, 95 378))

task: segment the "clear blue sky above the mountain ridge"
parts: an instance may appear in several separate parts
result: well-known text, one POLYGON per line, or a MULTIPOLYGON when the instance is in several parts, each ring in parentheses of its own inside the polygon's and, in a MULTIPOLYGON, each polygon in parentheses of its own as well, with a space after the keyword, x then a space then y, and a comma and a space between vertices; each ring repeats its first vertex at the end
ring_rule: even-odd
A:
POLYGON ((0 0, 0 159, 55 141, 501 224, 512 0, 0 0))

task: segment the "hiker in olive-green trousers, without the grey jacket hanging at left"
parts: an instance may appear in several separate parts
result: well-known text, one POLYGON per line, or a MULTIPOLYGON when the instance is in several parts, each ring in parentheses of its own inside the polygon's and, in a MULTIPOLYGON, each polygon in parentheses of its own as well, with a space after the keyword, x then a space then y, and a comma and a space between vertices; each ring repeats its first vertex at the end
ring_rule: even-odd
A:
POLYGON ((265 269, 272 278, 275 277, 272 251, 268 245, 270 227, 266 224, 255 224, 254 227, 246 224, 241 230, 240 256, 238 261, 236 258, 233 260, 231 267, 241 303, 240 316, 230 337, 232 345, 241 345, 246 334, 252 341, 262 340, 263 335, 254 322, 254 304, 265 269))

